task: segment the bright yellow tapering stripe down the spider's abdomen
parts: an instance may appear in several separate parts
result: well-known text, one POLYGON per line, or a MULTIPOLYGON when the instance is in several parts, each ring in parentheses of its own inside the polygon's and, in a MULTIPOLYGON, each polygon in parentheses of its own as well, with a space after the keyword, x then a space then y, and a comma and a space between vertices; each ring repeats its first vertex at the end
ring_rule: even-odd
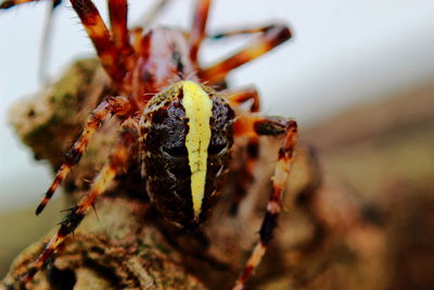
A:
POLYGON ((209 118, 213 116, 213 101, 197 84, 187 80, 182 84, 182 104, 189 118, 186 147, 191 171, 191 197, 194 218, 201 213, 205 192, 206 164, 210 140, 209 118))

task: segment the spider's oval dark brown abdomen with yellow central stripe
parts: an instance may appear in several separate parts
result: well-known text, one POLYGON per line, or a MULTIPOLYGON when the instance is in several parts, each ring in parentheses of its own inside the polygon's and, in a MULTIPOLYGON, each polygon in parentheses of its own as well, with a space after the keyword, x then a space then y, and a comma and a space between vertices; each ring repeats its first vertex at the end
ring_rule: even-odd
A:
POLYGON ((151 201, 170 223, 192 228, 208 216, 229 165, 233 119, 224 98, 190 80, 148 103, 142 174, 151 201))

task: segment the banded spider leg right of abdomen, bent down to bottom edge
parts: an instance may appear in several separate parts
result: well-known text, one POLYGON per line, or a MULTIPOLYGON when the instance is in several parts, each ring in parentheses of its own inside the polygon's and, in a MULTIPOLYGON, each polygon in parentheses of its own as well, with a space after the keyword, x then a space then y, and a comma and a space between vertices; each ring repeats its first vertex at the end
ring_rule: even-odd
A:
POLYGON ((253 125, 252 130, 258 135, 284 136, 282 147, 279 150, 276 163, 275 175, 272 177, 272 189, 270 199, 267 203, 267 211, 259 229, 259 241, 254 248, 242 274, 237 279, 233 289, 244 288, 245 282, 253 275, 259 265, 269 242, 272 239, 273 230, 277 227, 278 216, 281 210, 283 190, 288 180, 293 160, 294 148, 297 138, 297 124, 295 121, 283 118, 258 118, 247 122, 253 125))

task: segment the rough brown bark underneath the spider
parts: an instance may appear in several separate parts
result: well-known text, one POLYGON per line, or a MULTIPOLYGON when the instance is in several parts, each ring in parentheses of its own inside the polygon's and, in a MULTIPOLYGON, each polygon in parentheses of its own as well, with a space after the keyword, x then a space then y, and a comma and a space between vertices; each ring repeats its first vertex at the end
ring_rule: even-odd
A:
MULTIPOLYGON (((77 62, 48 91, 20 102, 11 114, 21 139, 37 159, 48 160, 53 168, 60 165, 63 153, 79 134, 89 110, 111 93, 98 67, 93 60, 77 62)), ((103 126, 64 182, 68 203, 89 188, 89 180, 110 152, 117 124, 112 118, 103 126)), ((396 273, 401 270, 394 268, 395 254, 403 251, 403 239, 396 237, 407 232, 399 227, 401 224, 412 225, 414 220, 424 220, 424 216, 396 222, 394 213, 385 215, 384 204, 390 204, 390 196, 383 196, 381 202, 381 199, 368 199, 353 189, 352 180, 357 178, 347 179, 343 186, 333 177, 331 172, 344 168, 339 160, 354 155, 345 155, 348 151, 343 150, 352 148, 352 143, 321 146, 328 138, 337 139, 340 133, 330 128, 331 123, 324 124, 306 135, 324 152, 324 166, 317 166, 307 147, 297 148, 284 200, 286 210, 280 216, 264 263, 250 282, 252 289, 406 289, 397 287, 395 280, 396 273), (328 159, 333 154, 326 148, 333 148, 332 152, 340 159, 328 159), (336 160, 339 165, 333 167, 336 160)), ((255 181, 239 214, 230 216, 228 207, 237 169, 245 157, 242 140, 235 146, 232 174, 222 189, 221 202, 202 230, 190 234, 176 232, 161 222, 148 202, 138 159, 132 155, 130 165, 110 192, 98 201, 95 213, 88 214, 28 288, 229 289, 257 240, 279 140, 263 138, 260 146, 255 181)), ((350 164, 353 160, 346 162, 350 164)), ((363 181, 367 180, 355 182, 363 181)), ((399 194, 404 200, 408 197, 403 191, 399 194)), ((417 202, 409 204, 420 209, 417 202)), ((43 240, 54 230, 56 227, 43 240)), ((42 245, 42 240, 36 241, 23 251, 3 283, 18 288, 18 277, 42 245)), ((429 283, 427 278, 421 278, 420 283, 429 283)), ((0 289, 4 285, 0 283, 0 289)))

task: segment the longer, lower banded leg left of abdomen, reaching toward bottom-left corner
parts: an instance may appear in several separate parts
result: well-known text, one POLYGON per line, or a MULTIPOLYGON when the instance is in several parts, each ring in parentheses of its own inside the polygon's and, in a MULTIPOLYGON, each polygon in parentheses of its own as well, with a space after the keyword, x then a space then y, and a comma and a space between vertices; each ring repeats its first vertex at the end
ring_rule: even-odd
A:
POLYGON ((73 232, 89 210, 95 203, 98 197, 106 191, 111 186, 116 173, 127 163, 130 150, 135 144, 138 136, 138 121, 129 118, 125 121, 120 127, 119 138, 115 148, 108 156, 108 161, 101 168, 101 172, 94 178, 92 187, 86 196, 84 196, 77 204, 71 210, 66 217, 62 220, 61 227, 56 235, 46 244, 42 253, 30 266, 29 270, 23 277, 23 282, 27 283, 31 280, 36 273, 43 267, 47 260, 56 251, 56 249, 65 240, 66 236, 73 232))

